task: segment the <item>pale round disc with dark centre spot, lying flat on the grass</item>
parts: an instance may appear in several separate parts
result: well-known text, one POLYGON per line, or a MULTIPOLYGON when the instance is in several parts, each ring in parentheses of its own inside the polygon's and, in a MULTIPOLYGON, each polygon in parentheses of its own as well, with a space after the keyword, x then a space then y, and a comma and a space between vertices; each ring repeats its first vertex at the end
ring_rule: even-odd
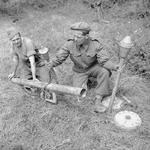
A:
POLYGON ((116 126, 122 129, 136 129, 142 123, 141 118, 138 114, 132 111, 120 111, 114 117, 116 126))

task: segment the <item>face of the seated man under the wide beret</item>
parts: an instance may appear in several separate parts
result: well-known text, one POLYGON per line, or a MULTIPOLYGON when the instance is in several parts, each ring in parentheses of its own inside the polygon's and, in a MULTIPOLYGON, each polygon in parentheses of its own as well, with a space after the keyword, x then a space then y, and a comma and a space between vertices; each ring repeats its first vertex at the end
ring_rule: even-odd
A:
POLYGON ((81 45, 85 42, 86 36, 82 35, 81 32, 77 32, 74 34, 74 40, 77 45, 81 45))

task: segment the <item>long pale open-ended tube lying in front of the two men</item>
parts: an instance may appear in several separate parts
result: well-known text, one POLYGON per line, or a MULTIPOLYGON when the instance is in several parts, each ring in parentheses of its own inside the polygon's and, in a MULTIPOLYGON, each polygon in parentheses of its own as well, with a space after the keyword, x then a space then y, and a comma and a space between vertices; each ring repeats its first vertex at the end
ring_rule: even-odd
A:
POLYGON ((48 84, 45 82, 35 82, 32 80, 26 80, 20 78, 12 78, 11 81, 19 85, 25 85, 25 86, 36 87, 36 88, 44 88, 50 90, 51 92, 65 93, 65 94, 76 95, 80 97, 86 96, 86 89, 84 88, 71 87, 67 85, 59 85, 54 83, 48 84))

